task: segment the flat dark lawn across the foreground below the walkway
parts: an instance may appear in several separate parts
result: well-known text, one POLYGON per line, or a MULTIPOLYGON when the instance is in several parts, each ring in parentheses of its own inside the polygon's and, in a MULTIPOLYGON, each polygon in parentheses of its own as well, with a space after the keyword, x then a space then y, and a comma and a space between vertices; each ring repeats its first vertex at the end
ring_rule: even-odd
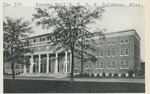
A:
POLYGON ((4 79, 4 93, 144 93, 144 83, 4 79))

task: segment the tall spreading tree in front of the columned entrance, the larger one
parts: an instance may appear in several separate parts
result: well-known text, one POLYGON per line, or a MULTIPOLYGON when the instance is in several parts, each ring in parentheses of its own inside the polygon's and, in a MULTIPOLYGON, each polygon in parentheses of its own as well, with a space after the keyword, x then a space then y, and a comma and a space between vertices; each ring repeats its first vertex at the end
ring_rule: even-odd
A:
MULTIPOLYGON (((51 33, 51 43, 57 45, 57 49, 64 47, 72 54, 71 62, 71 83, 73 82, 74 53, 80 49, 76 45, 81 45, 81 38, 91 38, 101 35, 102 30, 91 33, 88 25, 95 23, 95 19, 101 19, 104 9, 101 7, 89 8, 84 6, 62 6, 49 7, 47 9, 36 8, 33 14, 33 21, 37 26, 44 29, 53 27, 51 33)), ((88 46, 90 47, 90 46, 88 46)), ((94 59, 92 54, 85 52, 90 59, 94 59)))

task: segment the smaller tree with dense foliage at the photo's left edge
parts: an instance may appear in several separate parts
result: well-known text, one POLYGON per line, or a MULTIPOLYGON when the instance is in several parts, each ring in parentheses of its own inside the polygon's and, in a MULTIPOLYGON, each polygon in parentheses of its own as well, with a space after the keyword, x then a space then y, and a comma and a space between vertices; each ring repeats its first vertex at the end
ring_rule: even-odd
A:
POLYGON ((20 19, 12 19, 6 17, 3 21, 3 54, 4 63, 8 62, 12 68, 12 80, 15 79, 15 63, 24 63, 27 58, 24 56, 25 53, 30 50, 26 48, 27 42, 22 39, 27 37, 28 33, 32 33, 32 28, 28 21, 22 21, 20 19))

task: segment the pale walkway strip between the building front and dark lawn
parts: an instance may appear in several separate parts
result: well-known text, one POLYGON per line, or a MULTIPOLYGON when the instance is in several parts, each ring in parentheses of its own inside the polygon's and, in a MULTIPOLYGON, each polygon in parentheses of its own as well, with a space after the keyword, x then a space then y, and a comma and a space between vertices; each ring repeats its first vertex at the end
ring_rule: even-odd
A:
MULTIPOLYGON (((12 79, 11 76, 4 76, 4 79, 12 79)), ((16 79, 24 79, 24 80, 51 80, 51 81, 70 81, 70 78, 67 77, 67 74, 60 76, 59 74, 54 75, 18 75, 16 79), (42 76, 41 76, 42 75, 42 76)), ((123 82, 123 83, 145 83, 145 79, 106 79, 106 78, 74 78, 74 81, 81 82, 123 82)))

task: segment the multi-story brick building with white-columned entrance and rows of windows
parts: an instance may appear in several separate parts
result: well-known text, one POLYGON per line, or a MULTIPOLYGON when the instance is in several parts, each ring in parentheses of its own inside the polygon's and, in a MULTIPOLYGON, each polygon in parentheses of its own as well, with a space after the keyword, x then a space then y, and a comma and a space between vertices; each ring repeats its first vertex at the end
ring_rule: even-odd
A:
MULTIPOLYGON (((55 50, 50 47, 50 34, 29 37, 32 53, 26 56, 30 66, 23 67, 24 73, 70 73, 70 51, 55 50)), ((94 37, 96 62, 84 62, 84 72, 88 73, 127 73, 140 69, 140 36, 132 30, 105 33, 104 38, 94 37)), ((92 43, 92 42, 91 42, 92 43)), ((74 70, 81 71, 81 61, 75 59, 74 70)), ((8 69, 8 68, 7 68, 8 69)))

